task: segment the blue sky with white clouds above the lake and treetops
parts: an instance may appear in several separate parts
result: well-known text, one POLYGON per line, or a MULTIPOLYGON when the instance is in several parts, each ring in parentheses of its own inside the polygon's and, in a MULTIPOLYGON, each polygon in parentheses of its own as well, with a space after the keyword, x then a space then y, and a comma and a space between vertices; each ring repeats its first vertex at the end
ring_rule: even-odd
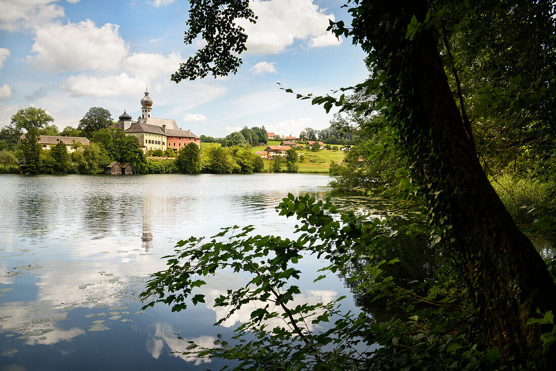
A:
POLYGON ((152 117, 197 135, 326 128, 334 110, 296 100, 276 82, 323 95, 367 77, 363 51, 326 32, 329 19, 348 23, 344 2, 250 2, 259 19, 246 26, 237 74, 176 84, 171 74, 202 46, 183 43, 186 1, 0 0, 0 127, 28 106, 46 110, 60 130, 77 127, 91 107, 137 119, 148 86, 152 117))

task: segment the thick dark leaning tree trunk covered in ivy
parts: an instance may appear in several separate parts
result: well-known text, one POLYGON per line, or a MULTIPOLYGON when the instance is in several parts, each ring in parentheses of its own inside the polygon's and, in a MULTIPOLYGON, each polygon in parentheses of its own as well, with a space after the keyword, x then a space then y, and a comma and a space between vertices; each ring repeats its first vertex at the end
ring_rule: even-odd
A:
MULTIPOLYGON (((411 17, 423 22, 427 10, 425 1, 388 0, 369 11, 372 26, 378 24, 372 12, 390 11, 397 18, 394 27, 370 36, 375 56, 380 58, 382 52, 384 59, 390 58, 388 63, 375 59, 378 69, 385 71, 385 84, 389 91, 399 89, 389 96, 396 112, 392 119, 397 119, 435 233, 469 286, 490 344, 500 348, 504 359, 539 359, 540 334, 550 329, 526 322, 538 317, 537 309, 556 313, 556 286, 481 168, 450 90, 434 30, 416 33, 413 41, 404 38, 411 17), (397 55, 385 52, 396 48, 401 51, 397 55)), ((546 357, 554 361, 556 352, 546 357)))

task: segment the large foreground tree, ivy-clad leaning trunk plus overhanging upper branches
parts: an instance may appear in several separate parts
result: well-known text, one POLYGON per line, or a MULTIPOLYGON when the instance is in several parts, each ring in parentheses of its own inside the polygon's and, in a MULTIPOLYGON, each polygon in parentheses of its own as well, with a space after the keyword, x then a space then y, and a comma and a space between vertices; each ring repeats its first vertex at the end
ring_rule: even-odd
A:
MULTIPOLYGON (((247 2, 225 2, 225 7, 216 6, 220 3, 215 1, 215 6, 210 7, 205 2, 202 6, 201 2, 192 2, 186 42, 191 43, 203 33, 207 44, 180 66, 172 80, 179 82, 209 73, 219 76, 237 71, 241 63, 237 54, 245 50, 246 36, 231 19, 245 18, 255 22, 256 18, 247 2)), ((367 116, 377 110, 384 113, 385 125, 393 129, 395 144, 410 164, 410 184, 423 200, 432 240, 453 261, 454 279, 461 282, 465 290, 473 292, 469 300, 475 311, 471 316, 476 318, 475 324, 481 329, 478 334, 485 336, 491 348, 499 349, 502 360, 513 360, 521 365, 532 360, 542 367, 540 360, 544 357, 545 367, 554 363, 556 352, 543 356, 541 338, 554 326, 549 320, 544 324, 532 324, 529 319, 537 316, 537 310, 546 314, 545 318, 556 312, 556 286, 542 258, 515 226, 481 167, 467 114, 469 102, 466 102, 458 70, 454 67, 449 37, 457 26, 469 25, 470 19, 496 23, 496 16, 501 12, 504 17, 512 18, 515 25, 524 25, 531 31, 526 35, 534 35, 534 40, 539 42, 535 48, 523 50, 544 53, 546 58, 533 56, 529 60, 546 66, 554 62, 556 24, 552 4, 505 1, 470 6, 467 2, 433 4, 425 0, 383 0, 371 4, 354 0, 348 12, 353 16, 350 26, 343 21, 331 21, 330 29, 338 37, 351 36, 368 56, 371 77, 356 89, 376 91, 376 106, 350 104, 344 101, 344 95, 339 99, 302 95, 300 98, 312 99, 312 104, 322 104, 326 111, 336 105, 341 111, 353 109, 367 116), (520 17, 523 13, 528 16, 520 17), (441 55, 443 45, 445 52, 441 55)), ((500 24, 507 27, 504 22, 500 24)), ((519 29, 512 27, 512 30, 519 29)), ((529 36, 520 35, 527 43, 529 36)), ((494 38, 496 36, 494 34, 494 38)), ((509 63, 512 61, 508 60, 509 63)), ((553 65, 544 70, 553 71, 553 65)), ((540 70, 535 68, 537 71, 540 70)), ((510 76, 518 79, 517 75, 510 76)), ((550 74, 547 72, 544 76, 550 74)), ((542 81, 538 86, 552 90, 553 79, 542 81)), ((530 85, 533 90, 535 86, 530 85)), ((472 103, 476 107, 489 106, 488 91, 484 95, 472 103)), ((553 94, 540 97, 544 99, 543 108, 554 107, 550 104, 553 97, 553 94)), ((329 256, 334 258, 334 254, 329 256)), ((271 287, 266 289, 271 290, 271 287)), ((298 335, 299 341, 305 341, 315 353, 311 340, 298 335)), ((399 339, 392 338, 391 342, 399 344, 399 339)))

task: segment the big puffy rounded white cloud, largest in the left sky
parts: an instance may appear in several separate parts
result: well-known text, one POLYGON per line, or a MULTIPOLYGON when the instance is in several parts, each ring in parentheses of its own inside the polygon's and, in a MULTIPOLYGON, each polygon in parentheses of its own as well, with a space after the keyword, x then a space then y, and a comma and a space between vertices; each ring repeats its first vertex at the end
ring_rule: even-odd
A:
POLYGON ((39 26, 28 60, 48 72, 115 70, 127 56, 128 46, 118 25, 96 27, 87 19, 79 23, 39 26))

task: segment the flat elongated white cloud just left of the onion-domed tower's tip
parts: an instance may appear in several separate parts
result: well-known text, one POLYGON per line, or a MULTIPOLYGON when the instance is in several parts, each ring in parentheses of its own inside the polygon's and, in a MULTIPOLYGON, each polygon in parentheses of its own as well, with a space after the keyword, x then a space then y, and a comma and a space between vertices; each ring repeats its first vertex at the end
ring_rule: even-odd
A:
POLYGON ((106 77, 70 76, 64 89, 72 96, 111 96, 142 92, 148 80, 145 77, 130 77, 125 72, 106 77))

